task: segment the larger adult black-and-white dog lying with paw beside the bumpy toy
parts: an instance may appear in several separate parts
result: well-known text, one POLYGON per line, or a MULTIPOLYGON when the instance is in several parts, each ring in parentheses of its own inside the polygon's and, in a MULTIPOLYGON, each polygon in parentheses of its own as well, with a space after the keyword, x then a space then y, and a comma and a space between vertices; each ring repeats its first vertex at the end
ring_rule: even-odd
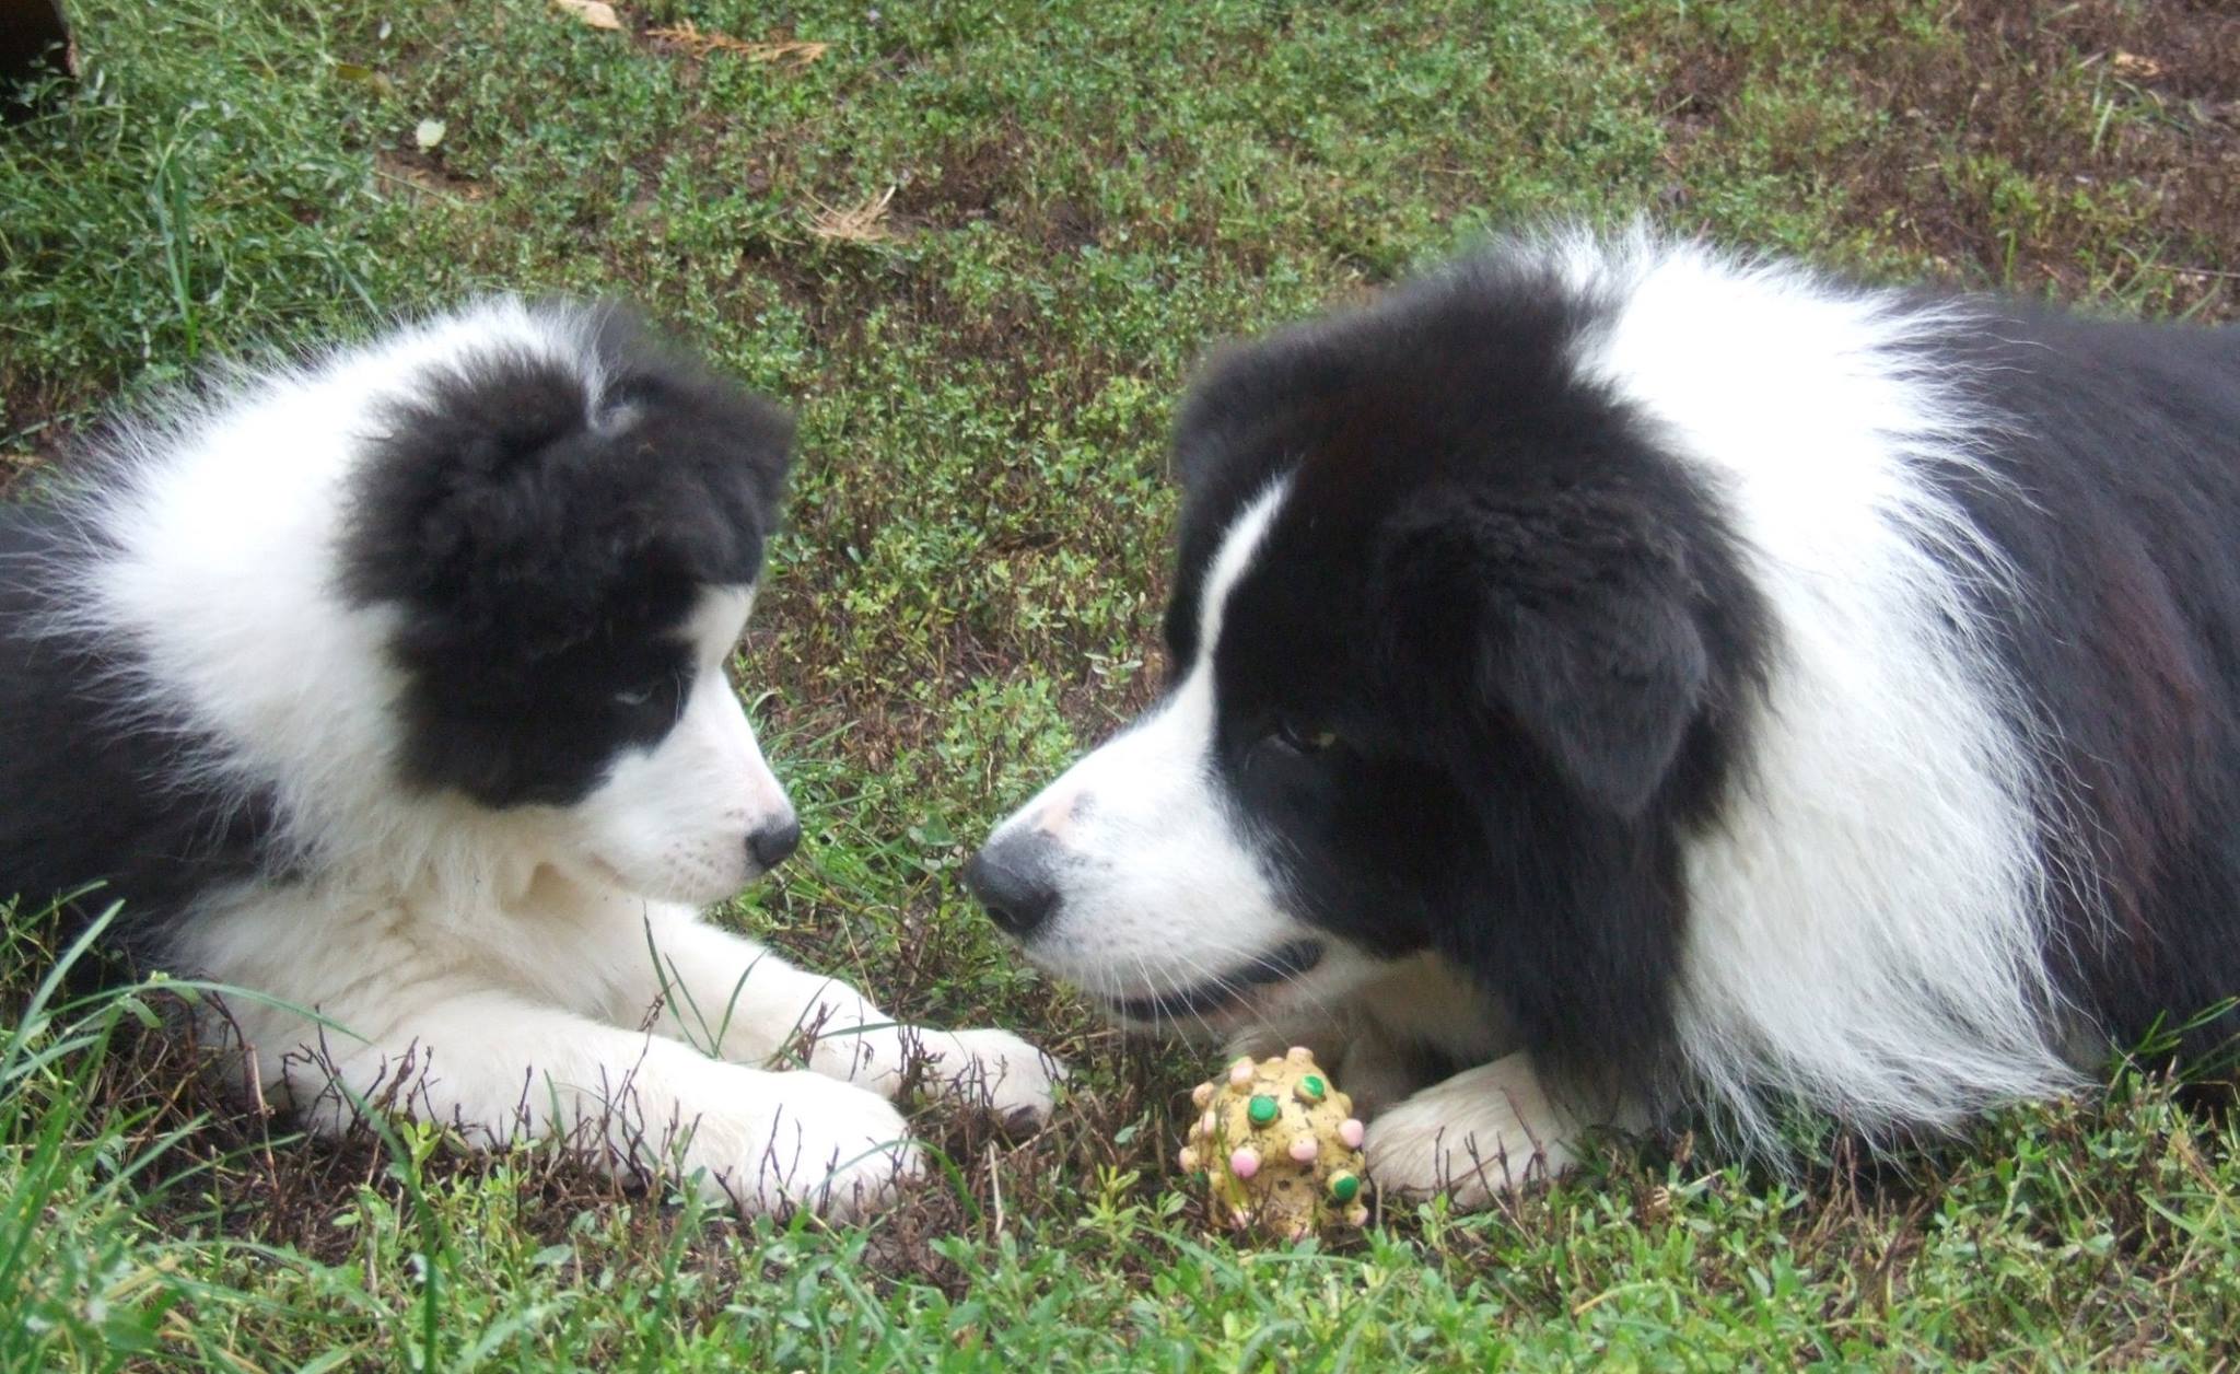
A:
POLYGON ((1176 462, 1165 697, 968 881, 1315 1047, 1389 1192, 2240 1022, 2240 332, 1510 242, 1221 354, 1176 462))

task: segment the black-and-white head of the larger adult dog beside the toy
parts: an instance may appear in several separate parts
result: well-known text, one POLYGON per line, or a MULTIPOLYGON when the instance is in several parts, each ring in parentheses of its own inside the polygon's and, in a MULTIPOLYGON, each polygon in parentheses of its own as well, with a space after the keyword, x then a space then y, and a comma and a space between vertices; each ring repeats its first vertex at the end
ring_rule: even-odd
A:
MULTIPOLYGON (((1172 681, 968 867, 1122 1020, 1313 1011, 1434 950, 1546 973, 1669 881, 1727 711, 1716 513, 1483 267, 1219 359, 1185 403, 1172 681)), ((1743 598, 1747 603, 1747 598, 1743 598)))

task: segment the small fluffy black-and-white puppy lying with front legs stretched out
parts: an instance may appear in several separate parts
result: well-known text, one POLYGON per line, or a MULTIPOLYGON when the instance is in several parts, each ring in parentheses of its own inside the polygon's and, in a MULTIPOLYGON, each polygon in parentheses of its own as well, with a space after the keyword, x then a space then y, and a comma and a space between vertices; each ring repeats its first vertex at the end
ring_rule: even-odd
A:
POLYGON ((699 917, 800 841, 726 679, 788 446, 614 314, 504 298, 121 426, 0 511, 0 894, 103 881, 134 955, 258 993, 246 1062, 314 1130, 381 1103, 847 1213, 918 1168, 912 1056, 1039 1121, 1021 1040, 699 917))

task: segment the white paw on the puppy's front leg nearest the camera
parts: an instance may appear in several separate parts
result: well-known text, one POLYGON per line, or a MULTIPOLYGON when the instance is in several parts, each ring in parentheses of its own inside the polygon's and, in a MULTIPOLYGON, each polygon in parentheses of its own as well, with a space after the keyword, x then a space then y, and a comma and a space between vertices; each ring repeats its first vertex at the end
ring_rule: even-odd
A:
POLYGON ((923 1175, 909 1125, 878 1094, 806 1071, 746 1078, 746 1098, 703 1107, 685 1145, 710 1195, 744 1213, 865 1217, 923 1175))

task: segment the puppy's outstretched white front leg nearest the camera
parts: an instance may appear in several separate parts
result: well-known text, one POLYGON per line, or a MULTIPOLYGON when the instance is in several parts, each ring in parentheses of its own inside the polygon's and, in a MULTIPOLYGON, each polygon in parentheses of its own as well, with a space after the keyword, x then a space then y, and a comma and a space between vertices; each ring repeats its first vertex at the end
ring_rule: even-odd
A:
POLYGON ((374 1040, 327 1031, 260 1062, 323 1134, 363 1110, 455 1127, 468 1145, 560 1139, 616 1175, 681 1168, 710 1199, 862 1215, 921 1170, 903 1116, 818 1074, 728 1065, 506 991, 401 1013, 374 1040))

